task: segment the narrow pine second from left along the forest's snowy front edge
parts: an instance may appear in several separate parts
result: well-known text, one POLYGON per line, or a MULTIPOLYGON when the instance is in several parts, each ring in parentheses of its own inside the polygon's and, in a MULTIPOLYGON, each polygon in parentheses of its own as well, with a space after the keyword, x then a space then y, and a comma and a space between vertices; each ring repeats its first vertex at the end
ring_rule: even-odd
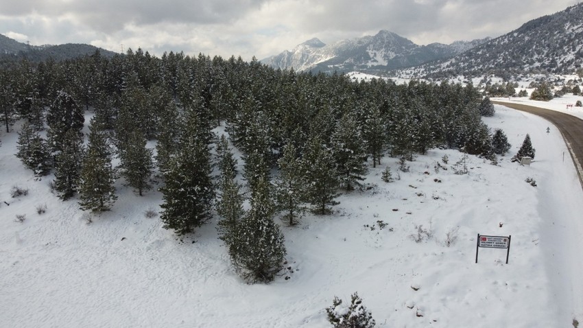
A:
POLYGON ((74 130, 67 131, 62 151, 55 157, 55 190, 60 199, 67 200, 78 191, 84 155, 80 134, 74 130))

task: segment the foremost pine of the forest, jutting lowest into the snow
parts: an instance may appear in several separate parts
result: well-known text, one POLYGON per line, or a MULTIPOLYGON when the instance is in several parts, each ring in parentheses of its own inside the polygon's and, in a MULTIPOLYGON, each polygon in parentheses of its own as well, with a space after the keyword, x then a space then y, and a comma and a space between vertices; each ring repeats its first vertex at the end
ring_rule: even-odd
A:
POLYGON ((262 176, 251 196, 251 209, 237 229, 235 245, 229 247, 235 270, 248 283, 269 283, 283 268, 285 244, 275 211, 267 176, 262 176))

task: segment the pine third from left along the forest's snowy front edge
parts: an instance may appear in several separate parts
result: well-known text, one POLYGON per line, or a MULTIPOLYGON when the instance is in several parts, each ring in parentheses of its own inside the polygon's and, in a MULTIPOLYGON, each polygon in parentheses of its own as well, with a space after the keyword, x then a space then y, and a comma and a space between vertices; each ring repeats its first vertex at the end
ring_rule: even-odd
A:
POLYGON ((79 204, 84 211, 101 212, 111 209, 115 194, 115 170, 106 132, 90 126, 87 155, 79 180, 79 204))

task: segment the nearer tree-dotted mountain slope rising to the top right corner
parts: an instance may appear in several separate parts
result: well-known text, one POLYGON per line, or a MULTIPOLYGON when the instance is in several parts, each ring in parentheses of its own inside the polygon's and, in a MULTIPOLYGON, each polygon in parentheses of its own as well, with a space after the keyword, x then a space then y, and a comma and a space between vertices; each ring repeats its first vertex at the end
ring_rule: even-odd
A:
POLYGON ((583 3, 529 21, 437 64, 410 70, 409 75, 517 75, 573 73, 583 65, 583 3))

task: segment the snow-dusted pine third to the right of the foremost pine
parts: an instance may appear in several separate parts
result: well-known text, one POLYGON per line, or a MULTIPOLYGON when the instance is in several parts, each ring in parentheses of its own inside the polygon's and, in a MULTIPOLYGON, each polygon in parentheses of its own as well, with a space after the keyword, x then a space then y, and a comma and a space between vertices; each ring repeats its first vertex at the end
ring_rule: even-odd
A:
POLYGON ((342 116, 332 135, 332 149, 336 172, 346 191, 361 186, 366 167, 366 150, 357 121, 349 113, 342 116))

